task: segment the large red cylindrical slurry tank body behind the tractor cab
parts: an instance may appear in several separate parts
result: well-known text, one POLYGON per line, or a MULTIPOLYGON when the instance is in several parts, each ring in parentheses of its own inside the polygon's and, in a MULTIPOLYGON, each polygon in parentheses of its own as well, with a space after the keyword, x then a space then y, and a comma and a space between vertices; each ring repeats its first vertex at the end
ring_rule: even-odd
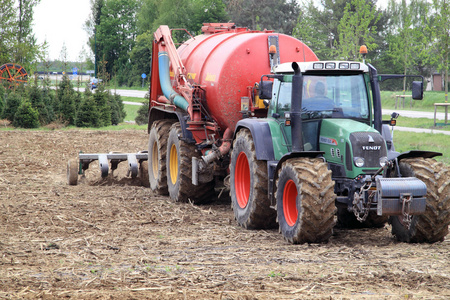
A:
POLYGON ((205 89, 207 109, 222 132, 233 130, 242 119, 241 97, 248 97, 261 76, 271 73, 270 44, 277 49, 277 64, 318 60, 308 46, 291 36, 228 25, 204 26, 204 34, 177 49, 189 81, 205 89))

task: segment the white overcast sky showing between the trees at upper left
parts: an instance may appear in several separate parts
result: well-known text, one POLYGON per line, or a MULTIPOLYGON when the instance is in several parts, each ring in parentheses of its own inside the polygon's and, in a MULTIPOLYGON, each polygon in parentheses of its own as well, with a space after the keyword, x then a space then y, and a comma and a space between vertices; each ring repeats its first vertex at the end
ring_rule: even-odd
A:
MULTIPOLYGON (((388 0, 379 0, 386 8, 388 0)), ((87 46, 88 36, 83 25, 91 12, 89 0, 41 0, 34 9, 34 33, 39 44, 48 43, 48 57, 60 59, 66 44, 69 61, 78 61, 82 47, 87 46)))

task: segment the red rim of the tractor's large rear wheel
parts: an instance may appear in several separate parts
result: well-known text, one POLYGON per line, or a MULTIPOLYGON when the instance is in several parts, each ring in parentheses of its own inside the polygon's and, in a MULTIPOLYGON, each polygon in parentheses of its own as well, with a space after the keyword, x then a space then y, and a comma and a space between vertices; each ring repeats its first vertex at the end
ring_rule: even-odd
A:
POLYGON ((248 204, 250 196, 250 166, 244 152, 239 153, 236 160, 234 187, 236 189, 236 199, 241 208, 248 204))

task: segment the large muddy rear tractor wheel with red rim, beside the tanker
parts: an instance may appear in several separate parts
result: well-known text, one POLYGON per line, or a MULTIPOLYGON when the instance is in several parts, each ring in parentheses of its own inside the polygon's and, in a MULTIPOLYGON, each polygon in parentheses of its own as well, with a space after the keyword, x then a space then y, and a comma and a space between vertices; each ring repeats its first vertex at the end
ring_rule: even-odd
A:
POLYGON ((249 130, 236 135, 231 152, 230 196, 238 224, 247 229, 274 228, 275 211, 267 193, 265 161, 258 161, 249 130))

